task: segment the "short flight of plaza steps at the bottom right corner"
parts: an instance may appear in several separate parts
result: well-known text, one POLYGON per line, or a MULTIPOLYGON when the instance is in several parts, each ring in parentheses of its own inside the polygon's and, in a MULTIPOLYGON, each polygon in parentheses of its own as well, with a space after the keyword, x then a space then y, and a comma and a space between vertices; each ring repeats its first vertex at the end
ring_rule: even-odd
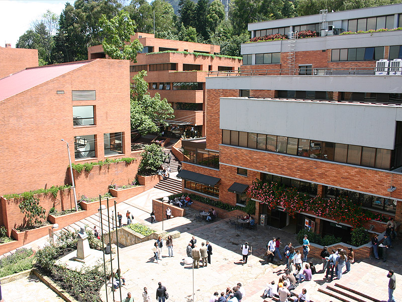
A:
POLYGON ((359 292, 340 283, 328 284, 326 287, 321 286, 318 288, 318 291, 335 297, 343 302, 381 302, 368 294, 359 292))

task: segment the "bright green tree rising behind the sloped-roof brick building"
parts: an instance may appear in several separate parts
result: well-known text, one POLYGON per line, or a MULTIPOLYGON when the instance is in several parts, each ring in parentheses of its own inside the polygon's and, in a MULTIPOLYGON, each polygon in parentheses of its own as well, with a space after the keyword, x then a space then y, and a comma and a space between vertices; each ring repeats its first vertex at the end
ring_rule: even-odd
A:
POLYGON ((138 39, 130 42, 131 36, 135 34, 135 24, 126 11, 120 11, 111 20, 102 15, 99 27, 104 38, 102 46, 107 55, 113 59, 137 62, 137 53, 143 46, 138 39))

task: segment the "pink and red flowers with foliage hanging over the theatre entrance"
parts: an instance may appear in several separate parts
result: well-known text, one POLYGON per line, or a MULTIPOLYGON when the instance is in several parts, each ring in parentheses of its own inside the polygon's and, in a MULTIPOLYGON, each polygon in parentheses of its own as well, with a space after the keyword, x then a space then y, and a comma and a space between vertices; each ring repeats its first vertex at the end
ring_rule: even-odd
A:
POLYGON ((281 206, 292 217, 296 212, 312 212, 319 217, 328 217, 335 221, 345 221, 353 227, 363 225, 373 217, 373 213, 345 198, 324 199, 299 193, 294 188, 286 189, 272 182, 253 181, 248 194, 268 204, 270 209, 281 206))

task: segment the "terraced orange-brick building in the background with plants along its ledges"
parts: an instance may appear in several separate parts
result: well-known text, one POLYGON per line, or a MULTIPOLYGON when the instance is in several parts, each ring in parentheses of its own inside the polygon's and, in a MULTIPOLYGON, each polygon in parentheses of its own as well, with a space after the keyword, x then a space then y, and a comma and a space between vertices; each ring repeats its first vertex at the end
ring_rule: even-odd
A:
MULTIPOLYGON (((137 62, 130 63, 130 79, 146 70, 149 93, 159 93, 174 109, 165 136, 202 136, 205 123, 205 78, 209 71, 234 71, 241 65, 237 57, 220 56, 220 46, 185 41, 157 39, 153 34, 136 33, 144 46, 137 62)), ((102 45, 88 48, 88 58, 105 57, 102 45)))

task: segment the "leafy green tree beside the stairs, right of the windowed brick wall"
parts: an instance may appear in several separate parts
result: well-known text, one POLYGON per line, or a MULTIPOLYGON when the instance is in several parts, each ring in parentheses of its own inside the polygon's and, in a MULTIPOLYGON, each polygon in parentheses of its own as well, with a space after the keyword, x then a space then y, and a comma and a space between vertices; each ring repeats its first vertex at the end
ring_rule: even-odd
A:
POLYGON ((173 108, 166 99, 161 100, 159 93, 152 98, 147 91, 148 83, 144 80, 147 71, 142 70, 134 76, 135 88, 131 98, 131 128, 141 131, 143 135, 158 132, 166 125, 164 120, 173 118, 173 108))

